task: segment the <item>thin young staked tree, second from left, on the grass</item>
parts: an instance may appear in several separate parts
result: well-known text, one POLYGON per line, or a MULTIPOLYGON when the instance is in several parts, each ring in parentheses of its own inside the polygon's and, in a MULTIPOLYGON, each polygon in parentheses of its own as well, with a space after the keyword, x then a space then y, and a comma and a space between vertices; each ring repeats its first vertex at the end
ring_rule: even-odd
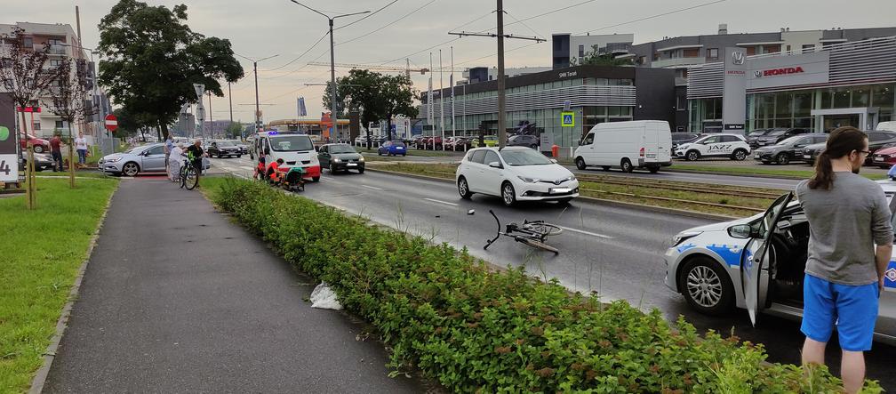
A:
POLYGON ((72 125, 75 120, 90 117, 95 112, 93 104, 87 101, 87 61, 66 59, 59 64, 58 79, 49 90, 52 101, 44 106, 65 123, 68 123, 68 174, 69 187, 74 188, 74 139, 72 125), (74 64, 74 68, 72 65, 74 64))

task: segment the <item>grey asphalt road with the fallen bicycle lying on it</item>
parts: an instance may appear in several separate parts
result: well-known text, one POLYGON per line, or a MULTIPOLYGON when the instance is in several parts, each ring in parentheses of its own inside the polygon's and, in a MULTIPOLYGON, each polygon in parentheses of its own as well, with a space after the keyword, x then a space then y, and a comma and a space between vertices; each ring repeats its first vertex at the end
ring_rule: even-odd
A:
MULTIPOLYGON (((214 164, 238 175, 251 174, 251 163, 244 160, 215 160, 214 164)), ((671 174, 659 174, 666 175, 671 174)), ((570 289, 594 291, 607 301, 625 299, 643 311, 657 308, 670 320, 684 315, 702 330, 733 331, 745 340, 764 344, 771 361, 799 362, 804 338, 799 321, 762 315, 759 327, 753 328, 745 311, 708 317, 692 311, 680 294, 663 284, 666 265, 662 254, 668 240, 676 232, 708 223, 705 220, 575 201, 568 207, 526 204, 505 208, 497 197, 477 195, 462 200, 452 183, 371 171, 363 175, 324 171, 321 182, 307 185, 301 195, 434 241, 466 247, 474 256, 498 266, 524 266, 531 275, 556 277, 570 289), (470 209, 475 215, 468 215, 470 209), (489 209, 502 223, 542 219, 563 226, 564 233, 548 241, 561 250, 560 255, 532 250, 506 238, 483 250, 496 230, 489 209)), ((836 347, 832 342, 828 355, 834 371, 839 370, 836 347)), ((883 381, 891 390, 896 390, 894 359, 896 348, 883 344, 875 344, 867 356, 869 377, 883 381)))

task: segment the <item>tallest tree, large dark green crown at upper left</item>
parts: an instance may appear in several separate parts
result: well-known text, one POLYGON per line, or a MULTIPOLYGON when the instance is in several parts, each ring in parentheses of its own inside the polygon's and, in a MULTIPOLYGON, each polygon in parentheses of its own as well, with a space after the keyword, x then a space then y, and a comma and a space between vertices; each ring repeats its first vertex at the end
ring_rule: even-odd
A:
POLYGON ((168 9, 120 0, 99 23, 99 83, 140 123, 168 124, 181 106, 195 102, 193 83, 223 96, 220 81, 236 82, 243 67, 228 39, 205 37, 186 25, 186 5, 168 9))

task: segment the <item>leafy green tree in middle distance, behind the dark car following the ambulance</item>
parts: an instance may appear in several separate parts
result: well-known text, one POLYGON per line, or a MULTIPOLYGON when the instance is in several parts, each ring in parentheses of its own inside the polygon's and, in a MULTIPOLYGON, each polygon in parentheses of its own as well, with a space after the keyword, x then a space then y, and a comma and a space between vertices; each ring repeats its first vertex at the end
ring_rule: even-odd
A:
MULTIPOLYGON (((365 127, 371 122, 378 123, 386 119, 389 138, 392 139, 392 117, 406 116, 416 118, 418 109, 414 106, 414 98, 418 92, 414 84, 405 75, 387 75, 369 70, 354 69, 348 75, 337 78, 336 86, 341 101, 340 117, 348 112, 358 112, 361 124, 365 127)), ((332 109, 330 86, 323 96, 323 107, 332 109)))

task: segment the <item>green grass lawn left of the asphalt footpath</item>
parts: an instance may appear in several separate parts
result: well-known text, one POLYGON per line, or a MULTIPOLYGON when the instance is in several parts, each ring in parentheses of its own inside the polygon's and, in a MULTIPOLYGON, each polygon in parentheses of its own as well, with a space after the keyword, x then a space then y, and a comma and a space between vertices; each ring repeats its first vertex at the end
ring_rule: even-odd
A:
POLYGON ((38 179, 37 209, 0 198, 0 392, 28 390, 117 181, 38 179))

